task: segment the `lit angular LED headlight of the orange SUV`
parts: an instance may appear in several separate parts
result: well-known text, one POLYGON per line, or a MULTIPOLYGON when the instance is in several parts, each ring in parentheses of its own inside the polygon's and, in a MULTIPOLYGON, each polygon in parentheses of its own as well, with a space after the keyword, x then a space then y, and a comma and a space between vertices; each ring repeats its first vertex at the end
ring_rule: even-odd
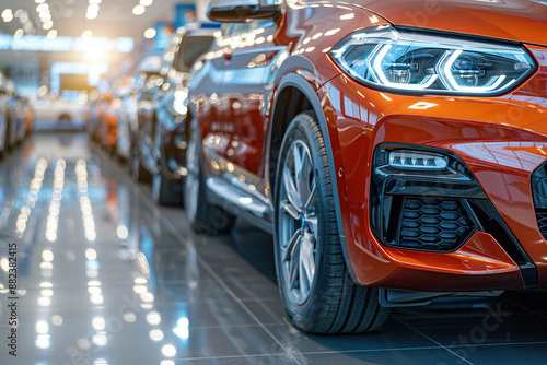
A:
POLYGON ((501 94, 536 69, 521 46, 396 31, 386 25, 349 35, 330 55, 360 82, 420 94, 501 94))

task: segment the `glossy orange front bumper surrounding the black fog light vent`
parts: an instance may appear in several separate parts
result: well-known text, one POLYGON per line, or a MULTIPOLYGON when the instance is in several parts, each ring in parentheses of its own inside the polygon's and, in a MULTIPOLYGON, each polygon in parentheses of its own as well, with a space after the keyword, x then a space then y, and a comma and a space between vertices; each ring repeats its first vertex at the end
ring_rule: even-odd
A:
POLYGON ((497 98, 392 95, 344 75, 318 91, 330 121, 344 234, 359 283, 414 291, 547 285, 547 240, 531 182, 547 160, 544 85, 547 63, 528 84, 497 98), (486 214, 463 244, 435 251, 379 239, 371 226, 371 172, 382 143, 441 149, 468 168, 484 192, 477 199, 482 207, 470 209, 486 214))

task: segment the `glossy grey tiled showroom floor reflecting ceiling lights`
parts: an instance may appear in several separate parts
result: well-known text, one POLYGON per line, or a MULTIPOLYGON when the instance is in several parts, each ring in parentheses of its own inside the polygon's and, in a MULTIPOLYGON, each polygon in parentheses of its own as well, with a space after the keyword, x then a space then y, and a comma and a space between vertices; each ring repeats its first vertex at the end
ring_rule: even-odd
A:
POLYGON ((84 134, 36 133, 0 162, 0 364, 546 363, 545 293, 396 309, 375 333, 299 332, 279 299, 271 237, 244 223, 198 236, 150 190, 84 134))

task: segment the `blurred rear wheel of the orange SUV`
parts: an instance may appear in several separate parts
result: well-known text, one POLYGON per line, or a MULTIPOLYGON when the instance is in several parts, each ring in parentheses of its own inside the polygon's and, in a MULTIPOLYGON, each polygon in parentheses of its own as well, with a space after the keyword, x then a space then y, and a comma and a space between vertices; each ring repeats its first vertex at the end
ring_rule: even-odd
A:
POLYGON ((207 201, 201 139, 195 121, 190 125, 188 136, 186 149, 188 175, 184 179, 184 203, 188 221, 197 233, 210 235, 228 233, 235 223, 235 216, 207 201))

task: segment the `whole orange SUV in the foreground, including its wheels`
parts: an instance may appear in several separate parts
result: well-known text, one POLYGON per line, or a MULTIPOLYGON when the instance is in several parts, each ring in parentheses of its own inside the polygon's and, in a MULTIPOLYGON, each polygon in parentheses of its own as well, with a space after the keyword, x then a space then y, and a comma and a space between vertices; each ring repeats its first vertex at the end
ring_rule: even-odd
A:
POLYGON ((439 0, 428 16, 421 1, 213 0, 231 23, 189 83, 189 220, 272 232, 282 302, 310 332, 545 289, 540 2, 439 0))

